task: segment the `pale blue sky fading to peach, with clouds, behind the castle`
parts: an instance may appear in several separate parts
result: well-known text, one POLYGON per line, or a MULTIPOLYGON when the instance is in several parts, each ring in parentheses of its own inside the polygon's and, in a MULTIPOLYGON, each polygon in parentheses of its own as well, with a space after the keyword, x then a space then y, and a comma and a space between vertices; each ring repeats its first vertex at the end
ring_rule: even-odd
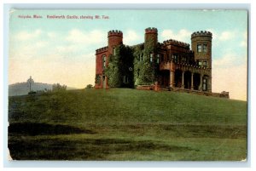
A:
POLYGON ((95 50, 106 46, 109 30, 124 43, 143 43, 144 29, 156 27, 159 42, 190 44, 194 31, 212 31, 212 90, 247 98, 247 11, 245 10, 14 10, 9 23, 9 83, 94 84, 95 50), (41 15, 20 19, 18 15, 41 15), (47 15, 105 15, 107 20, 47 19, 47 15))

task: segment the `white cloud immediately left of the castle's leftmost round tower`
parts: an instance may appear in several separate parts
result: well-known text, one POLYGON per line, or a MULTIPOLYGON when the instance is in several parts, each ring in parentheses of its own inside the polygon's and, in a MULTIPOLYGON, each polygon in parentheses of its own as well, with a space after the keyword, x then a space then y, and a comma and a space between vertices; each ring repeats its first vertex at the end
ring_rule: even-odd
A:
POLYGON ((73 29, 68 32, 66 40, 71 43, 85 43, 96 44, 105 42, 106 34, 99 30, 94 31, 80 31, 73 29))

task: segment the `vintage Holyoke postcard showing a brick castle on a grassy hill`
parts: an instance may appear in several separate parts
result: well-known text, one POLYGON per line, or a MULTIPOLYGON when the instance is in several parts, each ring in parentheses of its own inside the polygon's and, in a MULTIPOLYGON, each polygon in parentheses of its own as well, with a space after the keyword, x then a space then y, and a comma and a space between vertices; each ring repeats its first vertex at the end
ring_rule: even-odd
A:
POLYGON ((9 10, 11 160, 247 161, 247 10, 9 10))

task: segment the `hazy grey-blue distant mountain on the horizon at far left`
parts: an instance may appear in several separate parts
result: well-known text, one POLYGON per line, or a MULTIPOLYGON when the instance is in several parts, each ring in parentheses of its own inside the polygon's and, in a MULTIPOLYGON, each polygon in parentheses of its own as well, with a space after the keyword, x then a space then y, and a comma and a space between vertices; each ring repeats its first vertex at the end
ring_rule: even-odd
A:
MULTIPOLYGON (((51 89, 52 84, 49 83, 33 83, 32 84, 32 91, 39 91, 45 89, 51 89)), ((69 88, 67 89, 76 89, 76 88, 69 88)), ((9 85, 9 96, 15 95, 25 95, 29 92, 29 86, 27 83, 14 83, 9 85)))

